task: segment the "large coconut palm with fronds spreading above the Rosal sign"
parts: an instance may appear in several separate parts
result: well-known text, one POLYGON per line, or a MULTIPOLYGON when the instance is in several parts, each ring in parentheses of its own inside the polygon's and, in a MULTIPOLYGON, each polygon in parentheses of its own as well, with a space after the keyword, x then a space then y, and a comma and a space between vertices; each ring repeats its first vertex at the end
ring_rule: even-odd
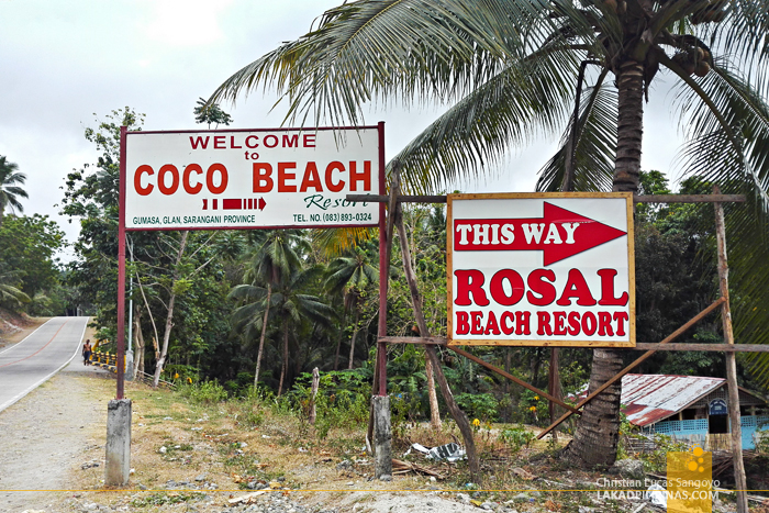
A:
MULTIPOLYGON (((769 289, 767 239, 749 233, 765 233, 769 211, 769 109, 759 93, 769 85, 768 29, 767 0, 360 0, 242 68, 210 101, 266 85, 288 101, 289 120, 344 126, 363 121, 370 99, 435 100, 453 107, 388 165, 402 169, 406 189, 478 176, 534 132, 560 131, 538 189, 635 191, 644 97, 667 70, 687 170, 755 200, 731 212, 746 242, 732 255, 754 258, 760 272, 733 282, 758 300, 769 289)), ((769 321, 751 321, 754 339, 767 341, 769 321)), ((621 365, 616 352, 597 349, 590 388, 621 365)), ((615 459, 618 400, 617 383, 586 408, 569 459, 615 459)))

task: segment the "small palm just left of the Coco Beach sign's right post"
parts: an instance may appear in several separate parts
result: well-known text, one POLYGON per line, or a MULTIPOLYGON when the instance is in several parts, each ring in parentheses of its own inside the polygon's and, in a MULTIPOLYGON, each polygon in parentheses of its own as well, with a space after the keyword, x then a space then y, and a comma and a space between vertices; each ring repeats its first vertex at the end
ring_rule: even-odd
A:
MULTIPOLYGON (((379 271, 369 263, 368 255, 360 246, 355 246, 350 252, 350 256, 338 257, 328 264, 328 276, 325 280, 325 287, 335 294, 342 294, 344 298, 345 316, 347 312, 355 312, 355 324, 353 327, 353 338, 349 342, 349 359, 347 368, 353 368, 355 356, 355 339, 358 336, 360 322, 360 306, 366 289, 379 281, 379 271)), ((344 333, 344 321, 343 330, 344 333)), ((334 356, 334 370, 339 364, 339 347, 342 345, 342 336, 336 344, 336 355, 334 356)))

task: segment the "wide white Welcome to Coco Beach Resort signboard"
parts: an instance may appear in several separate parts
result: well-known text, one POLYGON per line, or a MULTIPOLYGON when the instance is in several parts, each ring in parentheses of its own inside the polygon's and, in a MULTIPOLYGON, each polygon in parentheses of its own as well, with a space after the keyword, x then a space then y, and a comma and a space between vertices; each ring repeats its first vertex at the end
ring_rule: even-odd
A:
POLYGON ((374 226, 383 126, 129 132, 126 230, 374 226))

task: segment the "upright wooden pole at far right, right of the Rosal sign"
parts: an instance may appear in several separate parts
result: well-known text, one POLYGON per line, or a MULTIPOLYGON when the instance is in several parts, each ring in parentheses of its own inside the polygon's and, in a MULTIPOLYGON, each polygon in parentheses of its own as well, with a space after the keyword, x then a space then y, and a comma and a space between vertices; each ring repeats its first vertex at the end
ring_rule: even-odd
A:
MULTIPOLYGON (((718 194, 718 187, 713 188, 713 193, 718 194)), ((729 268, 726 261, 726 227, 724 223, 724 208, 721 203, 715 207, 715 235, 718 245, 718 287, 721 297, 725 299, 721 306, 721 322, 724 328, 724 342, 734 344, 732 331, 732 312, 729 310, 729 268)), ((737 363, 734 353, 726 353, 726 381, 728 383, 728 414, 732 427, 732 458, 734 462, 734 488, 737 491, 737 513, 748 513, 747 480, 745 478, 745 462, 743 461, 743 430, 739 415, 739 389, 737 388, 737 363)))

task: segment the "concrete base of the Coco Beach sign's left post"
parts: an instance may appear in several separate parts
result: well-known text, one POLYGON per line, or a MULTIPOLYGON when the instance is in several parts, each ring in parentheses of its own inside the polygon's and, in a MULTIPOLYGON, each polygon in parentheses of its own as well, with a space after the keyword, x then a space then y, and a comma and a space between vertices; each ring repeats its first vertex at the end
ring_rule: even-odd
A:
POLYGON ((107 406, 107 469, 104 484, 122 488, 131 472, 131 400, 113 399, 107 406))

